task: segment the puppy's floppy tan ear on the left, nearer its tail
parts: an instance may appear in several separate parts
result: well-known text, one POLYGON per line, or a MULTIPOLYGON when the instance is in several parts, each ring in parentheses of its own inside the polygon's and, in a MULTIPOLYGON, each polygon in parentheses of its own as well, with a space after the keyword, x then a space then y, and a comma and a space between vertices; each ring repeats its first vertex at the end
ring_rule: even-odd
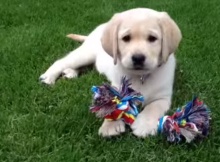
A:
POLYGON ((118 51, 118 29, 120 25, 120 15, 115 14, 112 19, 107 23, 104 29, 101 43, 106 53, 114 59, 114 64, 117 63, 118 51))

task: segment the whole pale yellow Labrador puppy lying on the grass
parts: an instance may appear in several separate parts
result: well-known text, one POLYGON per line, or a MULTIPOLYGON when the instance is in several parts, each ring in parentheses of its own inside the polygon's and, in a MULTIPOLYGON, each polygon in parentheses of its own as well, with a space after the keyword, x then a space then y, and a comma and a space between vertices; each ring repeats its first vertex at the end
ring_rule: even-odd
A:
MULTIPOLYGON (((171 105, 174 52, 182 37, 177 24, 165 12, 137 8, 115 14, 88 36, 69 37, 84 42, 42 74, 41 82, 54 84, 61 74, 77 77, 77 69, 89 64, 95 64, 115 87, 127 76, 145 98, 143 111, 131 125, 133 134, 155 135, 158 118, 171 105)), ((123 121, 105 120, 99 134, 107 137, 124 131, 123 121)))

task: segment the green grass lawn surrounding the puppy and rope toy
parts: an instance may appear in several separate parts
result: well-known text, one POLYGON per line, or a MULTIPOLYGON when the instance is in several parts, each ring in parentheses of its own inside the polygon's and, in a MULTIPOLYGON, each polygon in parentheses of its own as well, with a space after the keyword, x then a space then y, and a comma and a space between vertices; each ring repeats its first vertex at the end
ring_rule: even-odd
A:
POLYGON ((0 161, 117 162, 220 160, 219 0, 0 0, 0 161), (134 7, 167 11, 183 40, 177 52, 173 108, 199 95, 212 110, 204 141, 169 144, 131 132, 103 139, 101 120, 88 111, 90 87, 106 81, 94 70, 55 86, 38 77, 79 44, 68 33, 88 34, 113 13, 134 7))

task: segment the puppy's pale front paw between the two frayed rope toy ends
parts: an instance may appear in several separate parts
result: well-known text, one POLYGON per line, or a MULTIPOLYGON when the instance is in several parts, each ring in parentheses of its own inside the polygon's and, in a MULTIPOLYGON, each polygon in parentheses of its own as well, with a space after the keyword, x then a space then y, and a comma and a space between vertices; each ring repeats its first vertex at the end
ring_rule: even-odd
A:
POLYGON ((134 123, 131 125, 131 128, 134 135, 144 138, 149 135, 157 134, 157 123, 157 119, 149 118, 139 114, 134 123))

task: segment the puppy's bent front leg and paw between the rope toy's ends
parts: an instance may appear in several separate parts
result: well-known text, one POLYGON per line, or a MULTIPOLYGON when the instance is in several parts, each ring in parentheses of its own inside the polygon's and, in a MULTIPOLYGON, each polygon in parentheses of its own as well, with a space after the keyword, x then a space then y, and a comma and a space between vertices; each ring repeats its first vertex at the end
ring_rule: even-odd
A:
POLYGON ((131 125, 133 134, 146 137, 157 133, 158 119, 170 108, 170 99, 159 99, 147 105, 131 125))

